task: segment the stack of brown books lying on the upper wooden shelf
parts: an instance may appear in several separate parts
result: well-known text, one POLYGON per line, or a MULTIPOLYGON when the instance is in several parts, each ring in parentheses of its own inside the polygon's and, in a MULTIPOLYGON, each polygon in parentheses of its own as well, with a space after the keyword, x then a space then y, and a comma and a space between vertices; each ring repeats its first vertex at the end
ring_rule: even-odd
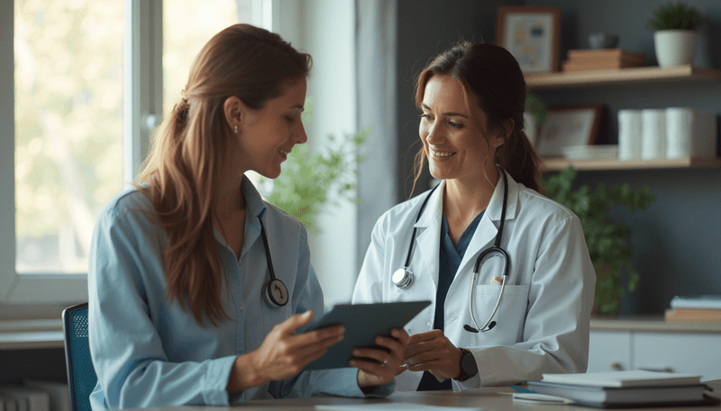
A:
POLYGON ((563 60, 565 73, 645 66, 643 54, 623 49, 569 50, 568 57, 563 60))

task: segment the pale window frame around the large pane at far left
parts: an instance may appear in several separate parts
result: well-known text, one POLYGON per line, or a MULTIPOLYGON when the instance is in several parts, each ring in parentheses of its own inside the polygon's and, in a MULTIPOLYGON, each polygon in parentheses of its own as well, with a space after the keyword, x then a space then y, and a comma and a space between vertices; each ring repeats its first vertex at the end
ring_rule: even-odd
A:
MULTIPOLYGON (((162 113, 162 0, 125 0, 123 6, 123 180, 128 184, 140 170, 162 113)), ((0 2, 0 27, 0 51, 13 56, 0 59, 0 125, 5 126, 0 134, 0 317, 23 311, 12 306, 33 306, 24 311, 44 317, 39 307, 87 301, 87 273, 15 271, 14 1, 0 2)))

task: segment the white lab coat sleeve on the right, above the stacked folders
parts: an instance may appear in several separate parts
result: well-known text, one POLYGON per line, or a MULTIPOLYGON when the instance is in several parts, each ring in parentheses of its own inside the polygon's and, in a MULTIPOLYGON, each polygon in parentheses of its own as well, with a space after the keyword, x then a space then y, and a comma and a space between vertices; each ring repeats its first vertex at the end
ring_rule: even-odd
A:
MULTIPOLYGON (((580 220, 562 219, 543 238, 528 296, 524 341, 470 347, 483 386, 540 380, 542 373, 585 372, 596 273, 580 220)), ((465 383, 454 381, 461 389, 465 383)))

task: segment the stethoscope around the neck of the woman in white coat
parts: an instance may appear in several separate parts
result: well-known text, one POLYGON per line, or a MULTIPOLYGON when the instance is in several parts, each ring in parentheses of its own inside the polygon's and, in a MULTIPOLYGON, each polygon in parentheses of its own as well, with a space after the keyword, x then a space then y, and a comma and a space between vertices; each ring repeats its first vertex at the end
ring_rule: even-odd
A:
MULTIPOLYGON (((501 297, 503 296, 503 290, 506 288, 506 279, 508 277, 508 263, 511 261, 510 256, 508 256, 508 253, 506 250, 501 248, 501 237, 503 236, 503 226, 506 223, 506 203, 508 198, 508 177, 506 173, 503 173, 503 182, 504 182, 504 188, 503 188, 503 209, 501 210, 501 223, 498 227, 498 233, 496 235, 496 241, 494 242, 493 246, 490 246, 488 249, 484 250, 482 253, 480 253, 479 257, 476 259, 476 264, 473 267, 473 280, 470 282, 470 297, 469 297, 469 308, 470 308, 470 319, 473 321, 473 325, 476 326, 475 328, 469 325, 463 326, 463 328, 466 331, 470 331, 471 333, 478 333, 479 331, 488 331, 492 329, 494 326, 496 326, 496 321, 491 321, 493 319, 493 316, 496 315, 496 311, 498 309, 498 306, 501 303, 501 297), (498 293, 498 300, 496 301, 496 307, 493 308, 493 312, 490 313, 490 317, 488 317, 488 321, 486 321, 486 324, 483 326, 479 326, 476 322, 476 317, 473 316, 473 285, 476 283, 476 277, 478 277, 480 265, 483 263, 484 259, 486 259, 489 255, 492 253, 497 253, 504 259, 504 265, 503 265, 503 281, 501 282, 501 291, 498 293)), ((441 185, 441 184, 438 184, 441 185)), ((418 222, 418 219, 421 218, 421 213, 423 212, 423 209, 425 208, 425 203, 428 202, 428 199, 431 198, 431 194, 435 191, 436 188, 438 188, 438 185, 436 185, 431 192, 428 193, 428 195, 425 197, 425 200, 421 204, 421 208, 418 209, 418 214, 415 216, 415 223, 418 222)), ((411 244, 408 246, 408 255, 406 255, 406 264, 403 268, 399 268, 396 270, 395 273, 393 273, 393 276, 391 277, 391 280, 399 289, 405 290, 408 287, 413 284, 413 273, 408 269, 408 266, 411 263, 411 255, 413 254, 413 246, 415 243, 415 223, 413 228, 413 234, 411 234, 411 244)))

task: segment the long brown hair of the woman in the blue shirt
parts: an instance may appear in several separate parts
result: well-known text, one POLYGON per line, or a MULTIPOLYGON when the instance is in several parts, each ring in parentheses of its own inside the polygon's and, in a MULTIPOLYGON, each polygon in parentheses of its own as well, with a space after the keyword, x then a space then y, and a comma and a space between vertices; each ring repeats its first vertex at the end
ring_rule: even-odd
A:
POLYGON ((178 300, 199 325, 229 318, 221 304, 224 270, 213 234, 224 153, 233 140, 224 101, 237 96, 260 109, 288 81, 308 76, 310 67, 310 55, 278 34, 230 26, 200 50, 180 102, 152 136, 134 185, 151 200, 153 222, 168 233, 166 298, 178 300))

